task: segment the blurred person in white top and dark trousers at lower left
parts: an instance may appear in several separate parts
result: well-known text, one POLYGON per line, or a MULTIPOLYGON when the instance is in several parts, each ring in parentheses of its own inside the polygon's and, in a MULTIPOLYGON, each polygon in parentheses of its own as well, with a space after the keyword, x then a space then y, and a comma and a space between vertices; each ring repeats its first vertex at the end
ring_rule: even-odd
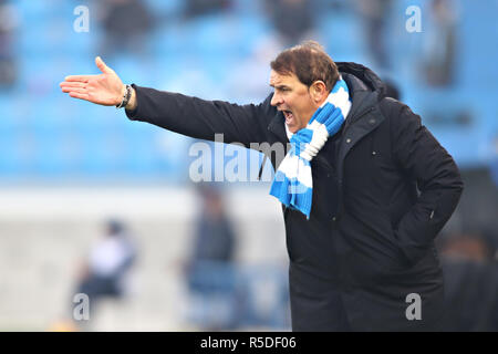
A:
POLYGON ((125 226, 117 220, 107 221, 105 232, 91 248, 76 288, 76 293, 89 296, 92 313, 100 299, 120 299, 127 292, 135 257, 136 249, 125 226))

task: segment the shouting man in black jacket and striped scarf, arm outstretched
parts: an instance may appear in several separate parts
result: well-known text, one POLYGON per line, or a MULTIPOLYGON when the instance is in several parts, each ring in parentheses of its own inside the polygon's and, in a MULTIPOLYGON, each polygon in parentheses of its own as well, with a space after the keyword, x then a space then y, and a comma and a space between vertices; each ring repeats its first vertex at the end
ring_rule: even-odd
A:
POLYGON ((444 288, 434 238, 463 183, 419 116, 385 97, 371 70, 335 64, 305 42, 271 63, 274 92, 264 102, 240 106, 128 91, 96 64, 101 75, 68 76, 62 91, 196 138, 293 143, 283 160, 270 158, 281 177, 271 192, 282 201, 294 331, 436 329, 444 288))

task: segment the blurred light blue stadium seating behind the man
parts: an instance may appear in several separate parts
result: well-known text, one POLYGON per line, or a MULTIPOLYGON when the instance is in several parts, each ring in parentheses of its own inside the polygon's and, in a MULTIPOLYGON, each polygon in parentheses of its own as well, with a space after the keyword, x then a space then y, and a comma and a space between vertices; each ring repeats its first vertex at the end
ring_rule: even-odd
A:
MULTIPOLYGON (((338 9, 325 7, 325 2, 320 4, 324 10, 320 12, 318 28, 328 52, 336 61, 371 65, 365 33, 353 6, 335 1, 341 4, 338 9)), ((102 30, 91 20, 90 33, 73 31, 73 10, 79 2, 12 3, 21 18, 14 41, 20 75, 10 93, 0 92, 0 179, 59 178, 72 174, 83 178, 123 174, 174 179, 188 173, 188 166, 181 166, 187 164, 186 158, 179 157, 185 156, 181 150, 187 148, 181 145, 185 140, 178 139, 176 144, 173 133, 128 122, 123 112, 71 100, 60 92, 58 84, 66 74, 100 73, 94 56, 98 54, 102 30), (163 146, 169 143, 176 148, 172 147, 174 153, 163 146)), ((227 79, 231 67, 248 58, 256 44, 272 32, 257 1, 235 0, 228 13, 188 22, 181 19, 184 1, 147 0, 147 3, 160 21, 147 40, 152 56, 146 64, 131 55, 104 58, 124 82, 204 98, 229 98, 227 79)), ((483 142, 488 142, 498 128, 495 100, 498 65, 481 70, 483 62, 492 63, 498 58, 498 46, 492 45, 498 39, 494 19, 498 2, 455 2, 460 14, 457 75, 455 84, 443 90, 427 87, 417 69, 427 33, 409 34, 404 30, 405 9, 416 4, 426 11, 428 2, 401 0, 393 4, 387 30, 393 72, 388 74, 400 84, 402 101, 421 114, 457 162, 464 166, 480 164, 486 158, 481 144, 487 144, 483 142), (465 110, 475 119, 471 125, 445 123, 465 110), (434 116, 439 116, 439 122, 434 116)))

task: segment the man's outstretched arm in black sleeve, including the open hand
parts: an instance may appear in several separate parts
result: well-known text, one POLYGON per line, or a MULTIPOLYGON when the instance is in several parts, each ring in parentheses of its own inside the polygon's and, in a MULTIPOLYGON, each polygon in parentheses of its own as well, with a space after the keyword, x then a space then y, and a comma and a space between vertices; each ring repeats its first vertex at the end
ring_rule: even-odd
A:
MULTIPOLYGON (((101 58, 97 56, 95 63, 102 74, 66 76, 61 83, 62 91, 95 104, 120 104, 125 85, 101 58)), ((225 143, 239 142, 249 147, 250 143, 267 139, 268 124, 277 114, 270 100, 271 96, 258 105, 238 105, 133 85, 126 114, 133 121, 195 138, 212 140, 215 134, 224 134, 225 143)))

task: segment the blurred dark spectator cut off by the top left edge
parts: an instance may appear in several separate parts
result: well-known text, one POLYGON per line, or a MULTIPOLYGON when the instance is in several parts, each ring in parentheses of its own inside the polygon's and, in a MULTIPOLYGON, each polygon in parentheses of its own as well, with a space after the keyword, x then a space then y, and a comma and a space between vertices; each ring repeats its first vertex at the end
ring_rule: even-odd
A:
POLYGON ((8 0, 0 0, 0 88, 14 84, 18 73, 12 44, 18 27, 18 13, 8 0))

